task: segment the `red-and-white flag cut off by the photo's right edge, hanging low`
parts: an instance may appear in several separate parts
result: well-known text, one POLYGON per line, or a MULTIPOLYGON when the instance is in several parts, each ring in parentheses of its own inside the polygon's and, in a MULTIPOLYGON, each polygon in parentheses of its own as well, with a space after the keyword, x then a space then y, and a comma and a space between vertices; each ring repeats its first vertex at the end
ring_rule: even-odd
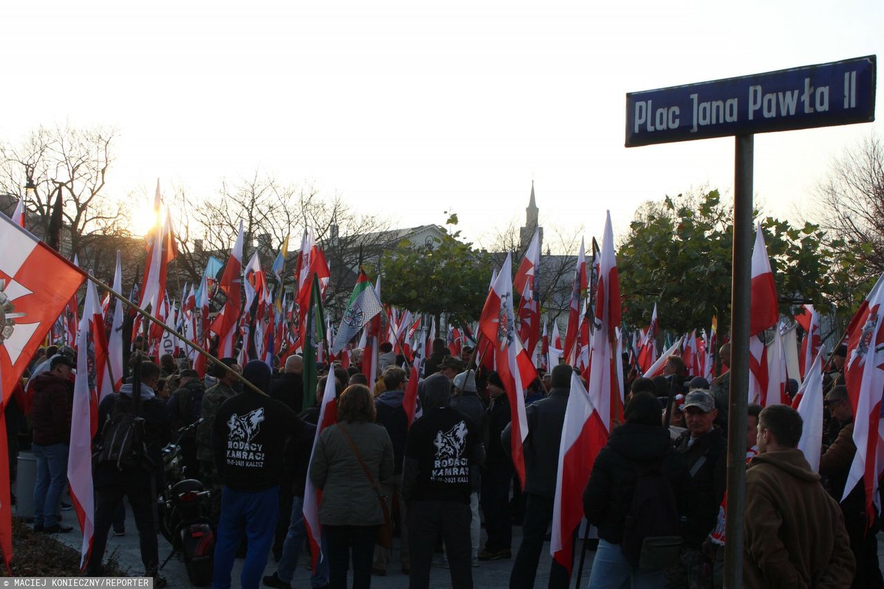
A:
POLYGON ((857 453, 850 464, 842 501, 857 484, 865 485, 865 511, 872 522, 875 508, 880 512, 878 480, 884 471, 884 421, 881 396, 884 395, 884 275, 866 296, 848 328, 847 361, 844 380, 853 406, 853 442, 857 453))

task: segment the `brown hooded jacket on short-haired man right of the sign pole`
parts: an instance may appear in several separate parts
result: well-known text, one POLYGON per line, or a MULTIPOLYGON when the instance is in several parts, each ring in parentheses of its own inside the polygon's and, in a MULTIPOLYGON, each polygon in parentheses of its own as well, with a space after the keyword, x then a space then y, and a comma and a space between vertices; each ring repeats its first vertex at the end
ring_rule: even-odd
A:
POLYGON ((849 587, 855 561, 841 509, 796 448, 752 458, 746 472, 747 587, 849 587))

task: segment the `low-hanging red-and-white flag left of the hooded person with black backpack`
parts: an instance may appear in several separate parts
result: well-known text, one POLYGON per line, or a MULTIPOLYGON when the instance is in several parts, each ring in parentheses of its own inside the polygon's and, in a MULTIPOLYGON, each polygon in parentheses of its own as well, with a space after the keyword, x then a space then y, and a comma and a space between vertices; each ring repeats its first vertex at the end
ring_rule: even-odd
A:
POLYGON ((550 554, 568 572, 574 560, 571 535, 583 518, 583 488, 590 480, 592 464, 595 464, 598 450, 607 443, 607 437, 598 409, 583 388, 583 382, 577 374, 572 374, 561 429, 550 535, 550 554))

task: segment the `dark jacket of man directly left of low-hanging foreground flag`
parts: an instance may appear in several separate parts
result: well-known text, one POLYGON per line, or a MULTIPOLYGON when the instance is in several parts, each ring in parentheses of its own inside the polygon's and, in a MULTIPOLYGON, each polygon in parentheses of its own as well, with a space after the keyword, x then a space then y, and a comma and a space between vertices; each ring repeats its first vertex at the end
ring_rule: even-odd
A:
MULTIPOLYGON (((561 428, 565 424, 565 407, 568 406, 566 388, 550 390, 549 396, 525 407, 528 419, 528 436, 522 443, 525 454, 525 493, 555 497, 555 481, 559 470, 559 445, 561 428)), ((501 436, 503 449, 510 452, 510 427, 501 436)))

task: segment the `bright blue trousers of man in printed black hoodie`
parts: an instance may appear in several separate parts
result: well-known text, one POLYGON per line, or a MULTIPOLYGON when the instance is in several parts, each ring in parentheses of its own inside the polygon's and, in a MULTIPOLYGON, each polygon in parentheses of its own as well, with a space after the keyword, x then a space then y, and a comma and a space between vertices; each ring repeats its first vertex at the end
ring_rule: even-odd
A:
POLYGON ((221 519, 215 544, 212 586, 230 587, 230 573, 243 533, 248 540, 246 563, 240 575, 240 587, 257 589, 267 566, 273 544, 273 531, 279 517, 279 487, 248 493, 224 487, 221 492, 221 519))

